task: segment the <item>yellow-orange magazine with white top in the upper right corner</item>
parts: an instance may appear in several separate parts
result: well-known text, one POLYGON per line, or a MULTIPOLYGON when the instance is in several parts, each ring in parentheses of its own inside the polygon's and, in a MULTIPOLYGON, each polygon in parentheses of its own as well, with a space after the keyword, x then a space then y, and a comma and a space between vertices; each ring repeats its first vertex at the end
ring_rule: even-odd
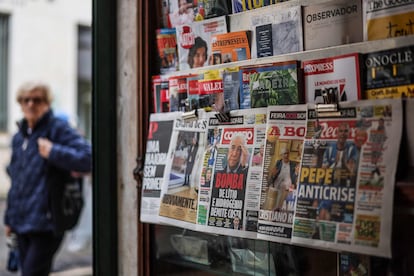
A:
POLYGON ((414 2, 362 1, 364 40, 412 35, 414 2))

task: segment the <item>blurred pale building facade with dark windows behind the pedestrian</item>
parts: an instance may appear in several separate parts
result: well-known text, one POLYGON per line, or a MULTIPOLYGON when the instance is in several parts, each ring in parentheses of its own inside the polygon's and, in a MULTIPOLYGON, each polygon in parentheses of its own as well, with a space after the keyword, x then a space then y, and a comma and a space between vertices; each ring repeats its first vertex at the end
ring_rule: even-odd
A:
POLYGON ((22 83, 48 83, 55 112, 90 137, 91 22, 91 0, 0 0, 0 195, 9 187, 3 168, 22 117, 22 83))

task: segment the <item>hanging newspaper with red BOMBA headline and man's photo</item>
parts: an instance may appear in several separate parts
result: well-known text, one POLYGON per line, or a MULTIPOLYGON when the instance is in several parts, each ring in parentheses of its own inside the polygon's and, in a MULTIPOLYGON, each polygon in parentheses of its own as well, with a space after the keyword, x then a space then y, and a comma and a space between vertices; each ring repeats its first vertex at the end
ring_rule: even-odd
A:
POLYGON ((266 108, 236 110, 230 122, 208 121, 197 230, 256 238, 266 108))

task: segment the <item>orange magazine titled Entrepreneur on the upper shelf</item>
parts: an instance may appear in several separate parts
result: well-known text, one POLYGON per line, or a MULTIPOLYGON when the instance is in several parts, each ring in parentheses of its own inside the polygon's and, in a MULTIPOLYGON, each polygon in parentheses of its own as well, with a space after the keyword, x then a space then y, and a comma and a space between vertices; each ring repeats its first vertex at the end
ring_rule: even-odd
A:
POLYGON ((250 59, 250 35, 250 31, 213 35, 213 65, 250 59))

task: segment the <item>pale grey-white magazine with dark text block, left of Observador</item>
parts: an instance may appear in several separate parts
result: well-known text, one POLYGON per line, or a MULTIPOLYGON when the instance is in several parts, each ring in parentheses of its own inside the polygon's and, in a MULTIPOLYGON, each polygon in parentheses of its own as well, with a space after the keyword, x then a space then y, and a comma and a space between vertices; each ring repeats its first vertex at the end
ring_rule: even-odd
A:
POLYGON ((303 51, 301 6, 267 7, 251 16, 252 58, 303 51))

